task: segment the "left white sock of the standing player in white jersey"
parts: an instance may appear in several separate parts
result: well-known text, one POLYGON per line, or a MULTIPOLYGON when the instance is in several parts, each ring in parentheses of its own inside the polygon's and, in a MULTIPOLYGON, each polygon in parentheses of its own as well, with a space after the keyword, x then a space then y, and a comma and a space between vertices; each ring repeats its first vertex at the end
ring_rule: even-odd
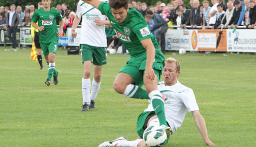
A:
POLYGON ((91 79, 82 78, 82 94, 83 94, 83 103, 90 104, 90 90, 91 90, 91 79))

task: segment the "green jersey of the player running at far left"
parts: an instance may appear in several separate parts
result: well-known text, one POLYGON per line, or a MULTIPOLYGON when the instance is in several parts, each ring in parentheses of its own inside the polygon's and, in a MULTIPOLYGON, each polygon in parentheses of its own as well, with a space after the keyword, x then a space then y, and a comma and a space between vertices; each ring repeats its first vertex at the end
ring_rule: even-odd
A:
POLYGON ((51 8, 50 11, 44 11, 43 8, 34 11, 31 21, 34 23, 38 21, 39 27, 44 26, 44 30, 39 31, 40 43, 47 44, 58 41, 56 19, 61 20, 62 16, 60 11, 54 8, 51 8))

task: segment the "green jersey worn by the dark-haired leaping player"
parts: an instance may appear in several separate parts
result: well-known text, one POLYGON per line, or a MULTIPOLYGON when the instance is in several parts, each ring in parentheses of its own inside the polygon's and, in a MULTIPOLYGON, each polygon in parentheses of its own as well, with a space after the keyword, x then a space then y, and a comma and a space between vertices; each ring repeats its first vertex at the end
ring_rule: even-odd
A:
POLYGON ((99 5, 99 10, 109 18, 118 38, 129 51, 131 58, 146 52, 140 41, 148 38, 151 39, 155 47, 155 55, 164 58, 155 36, 149 31, 145 19, 136 9, 129 7, 127 18, 122 23, 116 21, 107 2, 102 2, 99 5))

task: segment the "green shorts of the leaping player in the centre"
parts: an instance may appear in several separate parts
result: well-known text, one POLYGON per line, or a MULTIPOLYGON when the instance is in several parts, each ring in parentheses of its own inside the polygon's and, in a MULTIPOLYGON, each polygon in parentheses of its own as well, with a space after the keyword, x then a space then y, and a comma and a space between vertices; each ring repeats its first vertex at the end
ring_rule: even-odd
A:
MULTIPOLYGON (((146 52, 140 54, 136 57, 131 57, 126 66, 124 66, 119 73, 127 73, 129 74, 133 80, 134 84, 141 87, 143 85, 143 75, 145 74, 145 66, 146 66, 146 52)), ((161 56, 155 57, 152 68, 154 69, 155 74, 158 77, 158 81, 160 80, 162 69, 164 67, 164 58, 161 56)))

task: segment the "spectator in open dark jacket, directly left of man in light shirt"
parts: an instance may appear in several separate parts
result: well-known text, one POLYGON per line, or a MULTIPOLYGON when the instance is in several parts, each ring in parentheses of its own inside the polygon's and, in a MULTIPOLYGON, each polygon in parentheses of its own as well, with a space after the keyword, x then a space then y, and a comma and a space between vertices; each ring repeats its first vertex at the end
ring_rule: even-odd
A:
POLYGON ((197 27, 197 26, 201 26, 202 24, 202 21, 203 21, 203 18, 201 17, 200 15, 200 3, 199 3, 199 0, 193 0, 193 4, 194 8, 192 9, 192 17, 191 17, 191 20, 192 20, 192 24, 191 24, 191 27, 197 27))

